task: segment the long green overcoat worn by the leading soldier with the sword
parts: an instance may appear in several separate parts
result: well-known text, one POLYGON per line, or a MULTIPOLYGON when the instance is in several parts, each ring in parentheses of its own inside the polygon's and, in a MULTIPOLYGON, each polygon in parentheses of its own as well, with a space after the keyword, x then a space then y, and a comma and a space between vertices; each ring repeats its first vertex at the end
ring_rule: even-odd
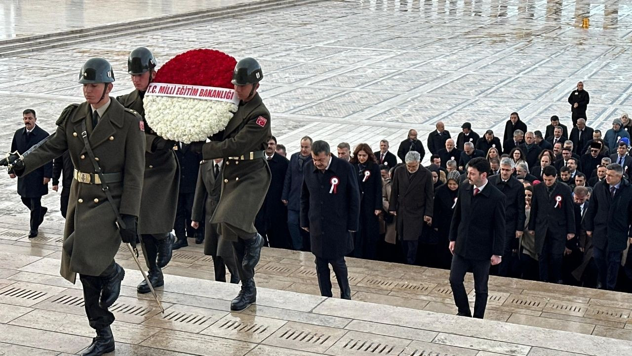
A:
MULTIPOLYGON (((103 173, 123 173, 123 181, 108 184, 121 214, 138 216, 145 167, 145 140, 140 115, 126 110, 114 98, 92 130, 90 105, 82 103, 67 120, 58 120, 51 139, 25 157, 25 171, 61 156, 66 149, 77 170, 95 173, 82 139, 86 122, 88 140, 103 173)), ((121 245, 116 215, 100 184, 73 179, 64 228, 61 276, 75 283, 76 273, 99 276, 111 264, 121 245)))

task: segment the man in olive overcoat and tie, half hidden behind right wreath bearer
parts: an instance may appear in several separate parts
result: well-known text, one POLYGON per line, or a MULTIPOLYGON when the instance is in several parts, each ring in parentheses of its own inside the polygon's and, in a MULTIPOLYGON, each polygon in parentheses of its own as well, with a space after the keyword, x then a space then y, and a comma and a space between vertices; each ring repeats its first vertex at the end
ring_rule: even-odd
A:
POLYGON ((210 224, 210 219, 219 204, 222 193, 223 160, 202 161, 198 172, 193 210, 191 210, 191 227, 199 229, 207 222, 204 229, 204 254, 213 258, 215 280, 226 282, 226 267, 231 272, 231 283, 239 283, 239 274, 233 254, 233 245, 217 233, 217 224, 210 224))

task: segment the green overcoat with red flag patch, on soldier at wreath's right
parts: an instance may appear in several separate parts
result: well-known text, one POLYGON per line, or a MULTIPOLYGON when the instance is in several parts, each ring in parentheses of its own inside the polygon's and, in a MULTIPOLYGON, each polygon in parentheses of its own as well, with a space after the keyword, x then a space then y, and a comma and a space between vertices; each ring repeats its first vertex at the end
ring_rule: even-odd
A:
POLYGON ((229 241, 235 241, 236 236, 223 224, 245 232, 257 232, 255 216, 264 203, 271 177, 264 157, 255 160, 231 160, 229 157, 264 151, 270 136, 270 112, 259 94, 255 94, 248 103, 240 103, 226 129, 214 135, 202 148, 204 160, 224 158, 222 193, 210 222, 222 224, 221 235, 229 241))

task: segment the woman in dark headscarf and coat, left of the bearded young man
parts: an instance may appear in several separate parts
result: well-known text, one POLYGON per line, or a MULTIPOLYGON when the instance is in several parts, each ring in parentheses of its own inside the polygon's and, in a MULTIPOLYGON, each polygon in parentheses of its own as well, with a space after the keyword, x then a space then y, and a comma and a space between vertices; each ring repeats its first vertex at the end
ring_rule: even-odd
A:
POLYGON ((450 269, 452 254, 447 248, 452 214, 459 193, 459 172, 447 174, 447 182, 435 190, 432 227, 437 234, 436 267, 450 269))

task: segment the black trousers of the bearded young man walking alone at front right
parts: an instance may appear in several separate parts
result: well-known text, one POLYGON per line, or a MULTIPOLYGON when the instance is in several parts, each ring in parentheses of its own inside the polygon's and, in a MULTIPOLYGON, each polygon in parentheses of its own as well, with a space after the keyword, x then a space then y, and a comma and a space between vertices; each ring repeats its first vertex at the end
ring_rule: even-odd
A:
POLYGON ((487 281, 489 281, 490 260, 471 260, 469 258, 454 255, 452 257, 452 267, 450 268, 450 286, 454 296, 454 304, 459 309, 460 314, 471 315, 468 293, 465 292, 463 279, 468 270, 474 274, 474 291, 476 298, 474 301, 474 317, 483 319, 485 307, 487 307, 487 281))

